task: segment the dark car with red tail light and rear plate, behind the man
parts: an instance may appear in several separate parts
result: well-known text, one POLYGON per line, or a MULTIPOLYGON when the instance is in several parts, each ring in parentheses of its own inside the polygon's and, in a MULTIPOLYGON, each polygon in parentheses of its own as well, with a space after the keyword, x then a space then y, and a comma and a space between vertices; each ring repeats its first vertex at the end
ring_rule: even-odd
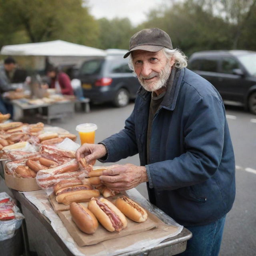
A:
POLYGON ((77 78, 81 80, 85 97, 92 102, 113 102, 117 107, 126 106, 140 87, 123 54, 86 60, 77 78))

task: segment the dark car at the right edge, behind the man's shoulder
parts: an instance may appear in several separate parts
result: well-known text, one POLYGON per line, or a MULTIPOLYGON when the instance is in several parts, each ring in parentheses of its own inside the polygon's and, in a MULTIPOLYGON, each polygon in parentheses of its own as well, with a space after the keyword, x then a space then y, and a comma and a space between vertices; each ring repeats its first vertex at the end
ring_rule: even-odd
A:
POLYGON ((189 58, 188 68, 213 84, 224 101, 242 104, 256 114, 256 52, 195 52, 189 58))

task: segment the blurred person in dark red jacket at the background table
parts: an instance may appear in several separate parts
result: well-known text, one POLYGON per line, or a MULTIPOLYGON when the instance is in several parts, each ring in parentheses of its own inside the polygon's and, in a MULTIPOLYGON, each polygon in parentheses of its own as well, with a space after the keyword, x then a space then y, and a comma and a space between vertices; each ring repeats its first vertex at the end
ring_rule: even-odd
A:
POLYGON ((56 92, 64 95, 74 95, 69 76, 58 71, 57 68, 50 66, 47 70, 47 76, 50 77, 50 88, 55 88, 56 92))

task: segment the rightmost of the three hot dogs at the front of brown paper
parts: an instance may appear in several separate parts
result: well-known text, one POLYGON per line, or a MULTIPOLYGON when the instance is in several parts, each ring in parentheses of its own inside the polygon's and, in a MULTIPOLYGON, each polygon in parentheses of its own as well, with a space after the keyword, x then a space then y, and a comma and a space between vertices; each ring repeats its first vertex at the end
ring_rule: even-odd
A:
POLYGON ((126 217, 135 222, 144 222, 148 218, 144 208, 126 196, 116 199, 115 204, 126 217))

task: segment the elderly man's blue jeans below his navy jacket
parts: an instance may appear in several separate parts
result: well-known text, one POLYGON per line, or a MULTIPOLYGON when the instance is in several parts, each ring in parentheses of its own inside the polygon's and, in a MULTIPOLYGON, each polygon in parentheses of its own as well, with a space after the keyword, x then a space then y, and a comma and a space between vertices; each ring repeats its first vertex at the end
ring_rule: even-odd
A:
POLYGON ((185 227, 192 232, 185 252, 179 256, 218 256, 226 215, 204 226, 185 227))

